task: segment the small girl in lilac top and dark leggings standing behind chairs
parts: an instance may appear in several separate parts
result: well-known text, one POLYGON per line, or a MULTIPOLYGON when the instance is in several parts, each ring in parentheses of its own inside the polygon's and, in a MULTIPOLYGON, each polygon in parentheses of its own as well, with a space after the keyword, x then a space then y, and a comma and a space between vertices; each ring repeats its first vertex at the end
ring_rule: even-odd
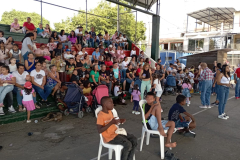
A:
POLYGON ((136 115, 140 114, 140 112, 138 111, 140 100, 141 100, 141 92, 139 91, 138 85, 135 84, 131 93, 131 102, 133 101, 134 103, 132 114, 136 114, 136 115))

